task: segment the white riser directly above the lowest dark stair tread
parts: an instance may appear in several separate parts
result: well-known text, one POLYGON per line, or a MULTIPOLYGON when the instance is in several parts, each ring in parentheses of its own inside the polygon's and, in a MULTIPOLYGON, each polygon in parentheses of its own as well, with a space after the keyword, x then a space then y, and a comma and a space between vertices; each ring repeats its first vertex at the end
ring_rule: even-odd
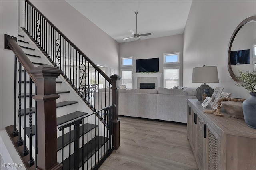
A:
MULTIPOLYGON (((87 134, 85 134, 85 135, 84 135, 84 144, 86 144, 88 141, 92 140, 92 138, 94 138, 94 137, 95 137, 95 130, 92 130, 91 132, 88 133, 88 138, 87 138, 87 134)), ((81 148, 82 145, 83 145, 83 137, 81 136, 81 137, 79 138, 79 148, 81 148)), ((74 153, 74 142, 72 142, 72 143, 70 144, 70 146, 71 146, 71 152, 70 152, 70 154, 73 154, 73 153, 74 153)), ((62 160, 61 160, 61 155, 62 155, 62 150, 59 150, 59 151, 57 152, 57 159, 58 159, 58 162, 62 162, 62 160)), ((65 160, 66 158, 68 158, 68 156, 69 156, 69 145, 66 146, 66 147, 64 147, 64 160, 65 160)))

